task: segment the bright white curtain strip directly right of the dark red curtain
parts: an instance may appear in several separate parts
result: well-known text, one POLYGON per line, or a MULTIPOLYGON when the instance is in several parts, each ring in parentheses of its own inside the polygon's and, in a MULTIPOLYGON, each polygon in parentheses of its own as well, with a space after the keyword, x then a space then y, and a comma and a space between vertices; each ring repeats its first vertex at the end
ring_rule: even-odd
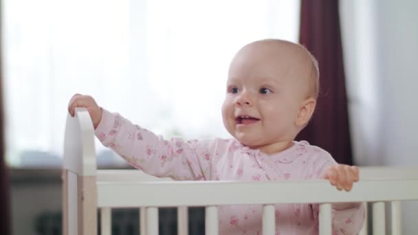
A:
POLYGON ((374 0, 340 1, 353 156, 359 165, 381 165, 377 12, 374 0))

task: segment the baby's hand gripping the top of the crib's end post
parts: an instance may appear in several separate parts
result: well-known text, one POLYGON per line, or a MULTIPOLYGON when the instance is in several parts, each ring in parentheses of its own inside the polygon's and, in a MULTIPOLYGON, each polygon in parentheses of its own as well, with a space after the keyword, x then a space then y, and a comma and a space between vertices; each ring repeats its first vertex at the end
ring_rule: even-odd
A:
POLYGON ((89 111, 91 121, 93 126, 96 129, 100 120, 102 120, 102 109, 98 106, 94 98, 91 96, 83 96, 80 94, 75 94, 68 104, 68 112, 74 117, 74 110, 76 107, 84 107, 89 111))

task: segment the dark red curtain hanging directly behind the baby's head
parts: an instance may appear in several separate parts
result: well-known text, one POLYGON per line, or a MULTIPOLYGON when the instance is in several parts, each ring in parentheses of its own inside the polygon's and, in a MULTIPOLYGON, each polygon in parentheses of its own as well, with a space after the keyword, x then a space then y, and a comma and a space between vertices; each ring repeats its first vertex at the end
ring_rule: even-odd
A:
POLYGON ((320 94, 311 122, 296 139, 320 146, 338 163, 351 165, 338 0, 301 0, 300 43, 318 59, 320 94))

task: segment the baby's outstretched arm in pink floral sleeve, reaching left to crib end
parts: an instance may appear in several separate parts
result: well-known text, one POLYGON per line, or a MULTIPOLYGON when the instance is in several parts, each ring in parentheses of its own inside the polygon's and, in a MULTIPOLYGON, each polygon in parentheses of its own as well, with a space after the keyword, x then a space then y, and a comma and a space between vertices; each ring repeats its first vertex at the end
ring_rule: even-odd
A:
POLYGON ((210 142, 185 143, 177 138, 165 140, 117 113, 101 109, 90 96, 74 96, 69 103, 70 114, 74 115, 75 107, 89 110, 100 142, 115 150, 135 168, 157 177, 207 179, 211 161, 202 161, 197 156, 210 152, 210 142))

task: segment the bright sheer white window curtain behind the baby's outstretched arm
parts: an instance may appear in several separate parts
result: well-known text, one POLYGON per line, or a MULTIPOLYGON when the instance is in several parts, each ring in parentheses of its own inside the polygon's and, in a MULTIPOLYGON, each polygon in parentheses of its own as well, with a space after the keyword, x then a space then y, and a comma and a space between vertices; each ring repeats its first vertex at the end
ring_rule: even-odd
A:
POLYGON ((164 137, 228 137, 221 103, 230 59, 257 39, 297 41, 299 5, 3 1, 9 164, 45 165, 51 162, 45 155, 61 157, 74 93, 90 94, 100 106, 164 137))

